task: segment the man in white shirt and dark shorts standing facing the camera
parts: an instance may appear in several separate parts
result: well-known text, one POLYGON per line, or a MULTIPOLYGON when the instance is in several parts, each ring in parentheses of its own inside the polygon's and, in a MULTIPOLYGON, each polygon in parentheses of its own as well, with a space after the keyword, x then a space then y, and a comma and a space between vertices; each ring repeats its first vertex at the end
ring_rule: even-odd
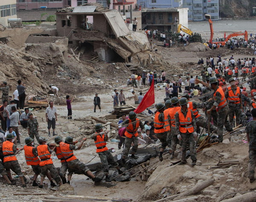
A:
POLYGON ((50 129, 52 128, 53 134, 52 136, 55 136, 55 124, 57 121, 57 109, 53 106, 53 102, 49 102, 49 107, 46 108, 45 117, 46 121, 48 123, 48 136, 51 137, 50 129))

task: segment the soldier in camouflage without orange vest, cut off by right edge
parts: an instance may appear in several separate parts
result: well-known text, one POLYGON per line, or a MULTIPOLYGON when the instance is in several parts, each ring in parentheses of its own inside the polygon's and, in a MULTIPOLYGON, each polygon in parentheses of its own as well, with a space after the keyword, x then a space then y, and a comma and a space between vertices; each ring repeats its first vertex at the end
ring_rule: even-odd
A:
POLYGON ((245 131, 249 142, 248 178, 250 183, 253 183, 256 165, 256 109, 251 112, 253 120, 247 123, 245 131))

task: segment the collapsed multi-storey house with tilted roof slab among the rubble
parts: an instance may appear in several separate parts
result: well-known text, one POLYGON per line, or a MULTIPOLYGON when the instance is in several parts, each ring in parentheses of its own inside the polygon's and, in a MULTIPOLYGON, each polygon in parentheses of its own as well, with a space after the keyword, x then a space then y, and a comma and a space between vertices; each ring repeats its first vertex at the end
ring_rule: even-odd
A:
POLYGON ((56 29, 59 37, 96 52, 106 62, 128 62, 134 54, 149 49, 143 32, 131 32, 117 10, 99 3, 57 10, 56 29))

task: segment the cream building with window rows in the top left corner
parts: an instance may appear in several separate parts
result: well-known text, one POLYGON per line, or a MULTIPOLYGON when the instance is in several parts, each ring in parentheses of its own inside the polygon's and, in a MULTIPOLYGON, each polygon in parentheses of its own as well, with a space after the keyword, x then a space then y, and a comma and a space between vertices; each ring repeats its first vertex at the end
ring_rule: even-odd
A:
POLYGON ((8 26, 8 18, 17 18, 16 0, 0 0, 0 23, 8 26))

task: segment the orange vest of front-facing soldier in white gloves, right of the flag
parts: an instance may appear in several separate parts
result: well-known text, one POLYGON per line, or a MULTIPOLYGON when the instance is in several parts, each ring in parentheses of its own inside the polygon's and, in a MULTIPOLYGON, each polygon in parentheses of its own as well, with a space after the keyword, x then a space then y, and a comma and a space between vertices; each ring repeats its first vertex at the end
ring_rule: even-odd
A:
POLYGON ((180 132, 186 133, 188 131, 189 133, 193 133, 194 127, 192 125, 191 110, 190 109, 188 110, 186 117, 184 117, 184 114, 181 112, 181 108, 178 111, 178 114, 179 114, 179 121, 180 121, 180 126, 179 126, 180 132))

